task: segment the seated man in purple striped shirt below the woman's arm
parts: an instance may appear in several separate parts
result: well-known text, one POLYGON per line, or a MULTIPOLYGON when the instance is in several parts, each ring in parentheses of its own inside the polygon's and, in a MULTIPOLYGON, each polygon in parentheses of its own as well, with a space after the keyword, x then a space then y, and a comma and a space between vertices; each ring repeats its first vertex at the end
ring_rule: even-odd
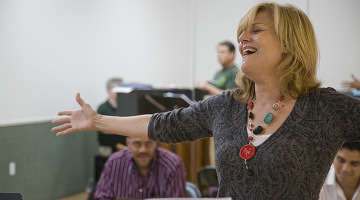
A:
POLYGON ((95 199, 185 197, 186 172, 176 154, 143 138, 127 137, 128 148, 104 165, 95 199))

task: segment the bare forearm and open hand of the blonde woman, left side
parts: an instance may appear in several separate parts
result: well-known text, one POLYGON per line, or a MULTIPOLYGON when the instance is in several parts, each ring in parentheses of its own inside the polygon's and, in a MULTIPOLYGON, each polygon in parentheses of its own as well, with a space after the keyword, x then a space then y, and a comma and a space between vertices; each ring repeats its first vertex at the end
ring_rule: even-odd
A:
POLYGON ((107 133, 132 137, 148 137, 148 124, 151 115, 131 117, 105 116, 95 112, 80 94, 76 94, 76 101, 81 109, 75 111, 61 111, 59 116, 66 116, 53 120, 53 124, 61 124, 52 128, 56 135, 66 135, 76 131, 98 130, 107 133))

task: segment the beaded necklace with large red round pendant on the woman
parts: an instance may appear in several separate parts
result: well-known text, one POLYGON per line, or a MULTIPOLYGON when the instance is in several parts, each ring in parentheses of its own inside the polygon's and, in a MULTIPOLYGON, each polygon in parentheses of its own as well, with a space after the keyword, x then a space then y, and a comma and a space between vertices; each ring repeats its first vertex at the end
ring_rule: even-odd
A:
MULTIPOLYGON (((285 90, 284 94, 287 94, 287 90, 285 90)), ((281 95, 279 100, 273 104, 272 111, 268 112, 264 117, 265 124, 270 124, 273 121, 273 119, 274 119, 273 112, 279 110, 280 102, 283 101, 284 98, 285 98, 284 95, 281 95)), ((250 172, 250 175, 251 175, 252 172, 249 170, 249 167, 248 167, 246 161, 250 160, 251 158, 253 158, 255 156, 256 149, 255 149, 255 146, 252 144, 252 142, 254 140, 254 134, 255 135, 260 134, 263 131, 263 127, 259 125, 255 128, 253 128, 252 119, 254 118, 254 114, 251 111, 254 108, 254 102, 250 101, 246 108, 248 110, 248 126, 247 127, 250 130, 250 136, 248 136, 249 144, 244 145, 240 149, 239 156, 244 160, 245 167, 250 172)))

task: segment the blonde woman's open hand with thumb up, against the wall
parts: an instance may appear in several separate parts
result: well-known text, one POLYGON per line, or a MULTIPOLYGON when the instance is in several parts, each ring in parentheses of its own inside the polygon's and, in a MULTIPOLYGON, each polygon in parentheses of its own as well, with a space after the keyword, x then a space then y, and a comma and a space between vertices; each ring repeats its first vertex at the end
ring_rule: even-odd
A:
POLYGON ((76 94, 76 101, 81 106, 80 110, 75 111, 61 111, 59 116, 67 116, 52 121, 53 124, 61 124, 51 129, 51 131, 58 132, 56 135, 66 135, 76 131, 87 131, 94 129, 94 121, 99 116, 89 104, 85 103, 80 98, 80 94, 76 94))

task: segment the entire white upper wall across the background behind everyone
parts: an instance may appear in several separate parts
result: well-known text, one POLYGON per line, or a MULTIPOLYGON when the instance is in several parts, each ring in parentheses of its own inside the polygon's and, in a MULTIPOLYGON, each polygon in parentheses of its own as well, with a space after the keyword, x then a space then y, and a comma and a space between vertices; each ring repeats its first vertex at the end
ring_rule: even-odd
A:
MULTIPOLYGON (((236 44, 237 24, 254 0, 0 0, 0 126, 93 107, 105 81, 192 87, 220 68, 216 45, 236 44)), ((360 3, 291 0, 308 13, 320 45, 319 79, 340 88, 360 77, 360 3)), ((237 63, 241 58, 237 54, 237 63)))

